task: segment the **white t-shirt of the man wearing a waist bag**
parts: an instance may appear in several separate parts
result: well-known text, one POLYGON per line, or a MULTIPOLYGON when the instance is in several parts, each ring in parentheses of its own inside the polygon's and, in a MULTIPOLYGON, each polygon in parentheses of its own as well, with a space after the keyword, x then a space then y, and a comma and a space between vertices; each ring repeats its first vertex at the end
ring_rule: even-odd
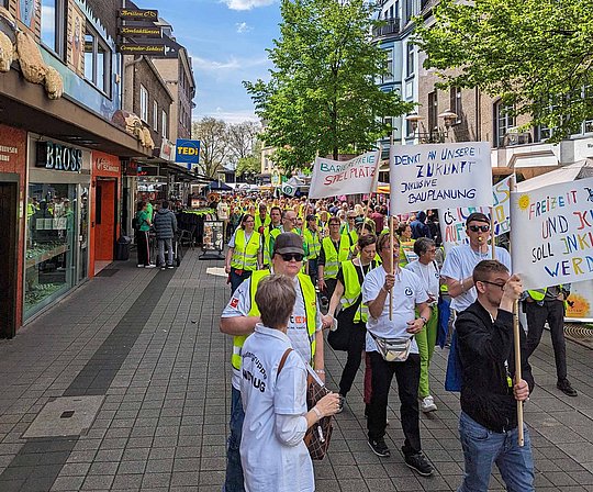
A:
MULTIPOLYGON (((387 272, 383 266, 369 271, 362 282, 362 303, 368 304, 377 299, 381 287, 385 283, 387 272)), ((369 313, 367 321, 367 332, 381 338, 398 338, 412 336, 406 332, 407 322, 416 318, 414 309, 428 300, 428 294, 422 286, 422 281, 416 273, 406 269, 400 269, 395 275, 395 284, 393 286, 393 313, 392 320, 389 318, 389 294, 385 297, 383 312, 379 320, 373 318, 369 313)), ((372 336, 367 333, 367 351, 377 351, 377 345, 372 336)), ((416 340, 412 342, 410 349, 412 354, 418 353, 416 340)))

